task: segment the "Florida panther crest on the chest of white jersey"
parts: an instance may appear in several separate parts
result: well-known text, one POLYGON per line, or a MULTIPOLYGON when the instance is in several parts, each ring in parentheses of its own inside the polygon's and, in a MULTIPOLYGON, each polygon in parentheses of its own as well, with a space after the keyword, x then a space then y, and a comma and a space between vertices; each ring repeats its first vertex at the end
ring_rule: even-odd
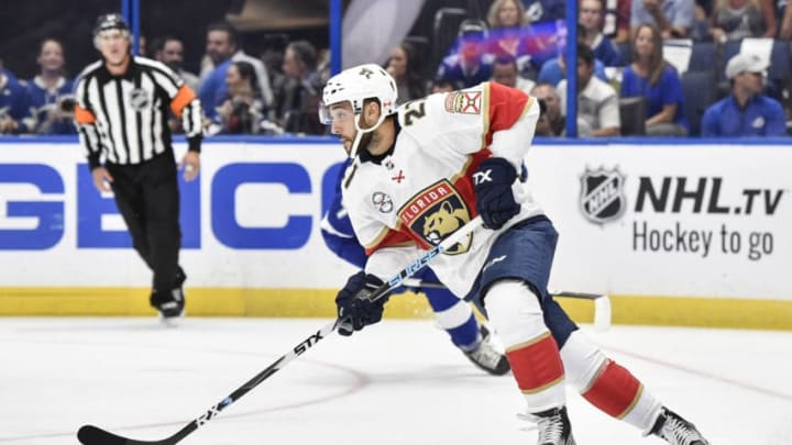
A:
MULTIPOLYGON (((426 242, 426 247, 440 244, 471 220, 464 199, 446 179, 416 194, 398 213, 410 231, 426 242)), ((468 235, 444 253, 463 254, 470 249, 472 240, 468 235)))

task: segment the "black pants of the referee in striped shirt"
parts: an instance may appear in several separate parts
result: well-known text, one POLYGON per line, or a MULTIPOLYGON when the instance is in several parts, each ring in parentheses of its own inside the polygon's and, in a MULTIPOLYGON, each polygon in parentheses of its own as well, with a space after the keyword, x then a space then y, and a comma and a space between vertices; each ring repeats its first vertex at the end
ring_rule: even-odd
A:
POLYGON ((106 168, 113 178, 116 205, 127 222, 134 248, 154 271, 154 289, 178 287, 182 227, 173 151, 141 164, 107 164, 106 168))

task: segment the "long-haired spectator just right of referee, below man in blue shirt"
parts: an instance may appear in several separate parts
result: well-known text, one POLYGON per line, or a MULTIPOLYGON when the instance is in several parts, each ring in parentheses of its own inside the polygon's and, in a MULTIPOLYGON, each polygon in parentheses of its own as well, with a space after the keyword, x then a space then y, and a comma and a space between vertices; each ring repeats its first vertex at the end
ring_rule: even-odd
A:
POLYGON ((253 65, 234 62, 226 74, 228 97, 220 107, 223 134, 255 134, 262 120, 262 100, 258 79, 253 65))

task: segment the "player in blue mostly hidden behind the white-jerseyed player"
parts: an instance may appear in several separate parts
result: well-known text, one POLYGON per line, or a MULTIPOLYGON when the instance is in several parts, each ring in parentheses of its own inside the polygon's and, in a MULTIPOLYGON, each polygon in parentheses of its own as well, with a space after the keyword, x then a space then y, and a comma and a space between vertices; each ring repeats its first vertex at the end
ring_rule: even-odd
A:
MULTIPOLYGON (((342 203, 343 170, 341 173, 342 175, 336 183, 336 197, 321 221, 322 237, 324 244, 337 256, 364 269, 366 254, 352 231, 346 209, 342 203)), ((438 281, 430 269, 424 269, 415 277, 427 282, 438 281)), ((427 296, 438 324, 448 332, 454 346, 460 348, 474 365, 495 376, 502 376, 509 371, 506 356, 493 347, 488 330, 483 324, 479 325, 469 302, 460 300, 447 289, 414 290, 422 291, 427 296)), ((350 331, 341 331, 341 333, 351 334, 350 331)))

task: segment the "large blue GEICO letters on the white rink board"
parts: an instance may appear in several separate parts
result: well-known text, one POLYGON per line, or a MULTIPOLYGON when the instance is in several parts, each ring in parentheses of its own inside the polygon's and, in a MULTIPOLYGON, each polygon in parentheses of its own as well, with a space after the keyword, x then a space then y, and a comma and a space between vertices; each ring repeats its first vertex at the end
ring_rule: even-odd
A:
MULTIPOLYGON (((43 164, 0 165, 0 249, 35 251, 56 246, 67 231, 74 231, 78 248, 129 248, 132 241, 123 229, 105 229, 102 219, 119 215, 112 197, 95 188, 85 164, 75 165, 76 187, 66 187, 62 174, 43 164), (35 192, 31 193, 31 190, 35 192), (74 190, 74 191, 73 191, 74 190), (73 196, 74 194, 74 196, 73 196), (74 204, 73 204, 74 203, 74 204), (72 210, 74 209, 74 210, 72 210), (72 216, 72 212, 76 215, 72 216)), ((215 238, 234 249, 297 249, 310 238, 315 220, 330 207, 342 164, 330 166, 321 183, 311 183, 308 170, 294 163, 228 164, 211 177, 208 199, 202 199, 200 181, 184 182, 179 177, 182 245, 200 248, 201 207, 207 205, 215 238), (251 226, 237 220, 238 207, 251 205, 238 198, 244 185, 278 185, 286 196, 321 193, 321 209, 288 214, 280 226, 251 226)), ((283 196, 283 194, 279 194, 283 196)), ((283 202, 256 203, 265 212, 283 211, 283 202)), ((120 215, 118 216, 120 218, 120 215)))

